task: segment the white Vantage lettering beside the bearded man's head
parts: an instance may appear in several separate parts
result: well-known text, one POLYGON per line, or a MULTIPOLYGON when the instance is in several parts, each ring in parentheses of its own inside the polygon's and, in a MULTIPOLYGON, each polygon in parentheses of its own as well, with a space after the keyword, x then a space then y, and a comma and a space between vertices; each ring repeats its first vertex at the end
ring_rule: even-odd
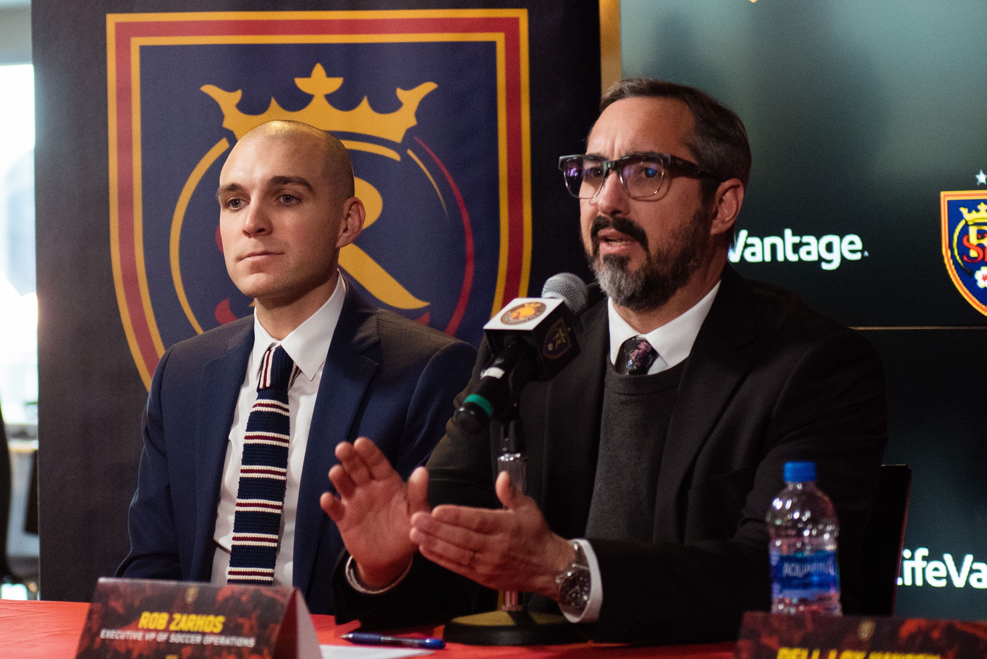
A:
POLYGON ((752 236, 747 229, 740 229, 736 243, 729 251, 730 263, 742 258, 747 263, 771 263, 775 261, 819 261, 823 270, 836 270, 844 259, 860 261, 868 256, 864 242, 856 233, 842 238, 836 234, 797 236, 792 229, 785 229, 781 236, 752 236))

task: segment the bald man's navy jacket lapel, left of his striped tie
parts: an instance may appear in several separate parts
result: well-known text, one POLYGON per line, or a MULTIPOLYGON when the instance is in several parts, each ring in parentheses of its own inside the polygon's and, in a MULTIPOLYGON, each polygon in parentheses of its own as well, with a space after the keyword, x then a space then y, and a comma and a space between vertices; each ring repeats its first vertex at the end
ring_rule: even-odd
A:
POLYGON ((195 454, 195 543, 192 579, 208 581, 212 574, 212 535, 216 528, 219 485, 233 426, 233 413, 254 348, 254 317, 239 321, 242 327, 224 345, 223 355, 206 363, 199 384, 198 434, 195 454))

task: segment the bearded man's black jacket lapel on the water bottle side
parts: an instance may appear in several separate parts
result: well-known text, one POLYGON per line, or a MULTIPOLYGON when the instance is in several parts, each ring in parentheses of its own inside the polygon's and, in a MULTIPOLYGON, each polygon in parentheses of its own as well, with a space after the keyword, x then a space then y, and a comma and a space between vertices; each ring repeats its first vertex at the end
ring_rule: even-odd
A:
POLYGON ((679 497, 686 476, 758 354, 754 304, 743 279, 726 266, 682 373, 668 423, 655 496, 655 540, 683 541, 685 511, 679 510, 679 497))

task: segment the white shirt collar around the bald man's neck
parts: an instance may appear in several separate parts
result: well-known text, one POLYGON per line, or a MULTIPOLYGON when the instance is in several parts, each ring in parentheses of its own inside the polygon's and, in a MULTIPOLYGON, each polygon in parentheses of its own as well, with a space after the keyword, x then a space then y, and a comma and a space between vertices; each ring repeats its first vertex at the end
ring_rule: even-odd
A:
POLYGON ((267 349, 271 345, 279 343, 288 357, 298 365, 302 374, 309 380, 314 378, 316 372, 326 361, 329 346, 333 342, 333 334, 336 332, 336 325, 340 321, 342 302, 345 297, 346 286, 341 274, 336 282, 336 289, 333 290, 333 294, 329 296, 326 303, 280 342, 267 334, 267 330, 258 320, 255 311, 254 351, 252 353, 255 371, 260 370, 267 349))

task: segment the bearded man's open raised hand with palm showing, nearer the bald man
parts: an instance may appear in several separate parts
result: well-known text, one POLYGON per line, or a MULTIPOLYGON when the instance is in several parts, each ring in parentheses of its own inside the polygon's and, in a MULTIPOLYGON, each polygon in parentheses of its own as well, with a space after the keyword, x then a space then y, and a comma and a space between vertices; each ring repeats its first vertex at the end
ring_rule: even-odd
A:
POLYGON ((362 581, 370 588, 394 582, 411 563, 411 518, 428 511, 428 472, 418 467, 406 483, 384 453, 365 437, 336 447, 329 471, 339 497, 325 492, 322 509, 340 529, 362 581))

